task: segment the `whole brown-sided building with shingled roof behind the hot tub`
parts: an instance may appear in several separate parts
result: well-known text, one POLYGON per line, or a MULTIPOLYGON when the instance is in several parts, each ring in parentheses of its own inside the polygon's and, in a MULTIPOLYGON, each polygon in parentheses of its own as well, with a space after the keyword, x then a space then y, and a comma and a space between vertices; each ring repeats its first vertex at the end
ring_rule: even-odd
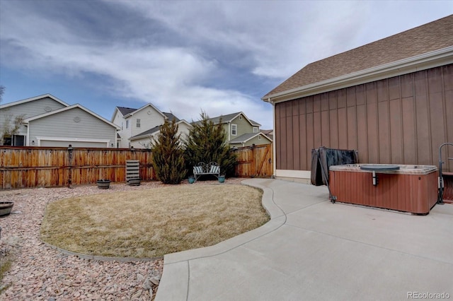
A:
POLYGON ((262 100, 276 177, 309 179, 320 146, 358 150, 360 163, 437 165, 453 142, 453 15, 315 61, 262 100))

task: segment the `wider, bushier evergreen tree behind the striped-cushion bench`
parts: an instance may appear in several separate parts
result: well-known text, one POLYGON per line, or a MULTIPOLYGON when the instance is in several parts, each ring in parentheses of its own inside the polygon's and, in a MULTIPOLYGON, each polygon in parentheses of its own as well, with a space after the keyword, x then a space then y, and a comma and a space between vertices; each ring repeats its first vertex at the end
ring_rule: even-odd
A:
POLYGON ((216 162, 219 163, 222 174, 234 175, 236 155, 230 151, 226 143, 222 121, 214 124, 205 112, 202 112, 200 117, 200 122, 190 129, 185 143, 185 161, 188 168, 191 169, 200 162, 216 162))

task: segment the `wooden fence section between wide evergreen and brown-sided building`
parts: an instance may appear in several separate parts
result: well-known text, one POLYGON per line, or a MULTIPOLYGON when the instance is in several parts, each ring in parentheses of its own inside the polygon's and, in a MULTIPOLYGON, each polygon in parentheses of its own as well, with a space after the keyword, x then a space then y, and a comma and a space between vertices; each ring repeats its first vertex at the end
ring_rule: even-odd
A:
POLYGON ((234 151, 237 155, 237 177, 270 177, 273 175, 273 145, 248 146, 234 151))

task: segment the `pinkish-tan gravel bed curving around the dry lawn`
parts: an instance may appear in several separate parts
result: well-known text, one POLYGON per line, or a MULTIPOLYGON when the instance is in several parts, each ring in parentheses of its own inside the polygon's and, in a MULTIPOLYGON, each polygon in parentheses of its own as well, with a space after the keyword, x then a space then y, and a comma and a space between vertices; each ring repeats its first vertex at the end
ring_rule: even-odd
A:
MULTIPOLYGON (((227 179, 239 184, 242 179, 227 179)), ((187 181, 183 185, 188 184, 187 181)), ((218 184, 217 181, 192 185, 218 184)), ((162 258, 149 261, 81 259, 47 246, 40 240, 45 206, 51 201, 87 194, 112 194, 168 186, 142 182, 138 187, 110 184, 72 188, 0 191, 1 201, 13 201, 13 211, 0 218, 0 256, 10 256, 11 268, 0 283, 0 300, 154 300, 164 268, 162 258)))

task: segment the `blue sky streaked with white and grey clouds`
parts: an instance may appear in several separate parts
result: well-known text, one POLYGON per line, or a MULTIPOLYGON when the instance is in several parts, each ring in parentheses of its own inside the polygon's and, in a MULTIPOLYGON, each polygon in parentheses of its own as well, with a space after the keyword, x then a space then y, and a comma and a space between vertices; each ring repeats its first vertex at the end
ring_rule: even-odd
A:
POLYGON ((111 119, 244 112, 306 64, 453 13, 453 1, 0 0, 3 102, 50 93, 111 119))

